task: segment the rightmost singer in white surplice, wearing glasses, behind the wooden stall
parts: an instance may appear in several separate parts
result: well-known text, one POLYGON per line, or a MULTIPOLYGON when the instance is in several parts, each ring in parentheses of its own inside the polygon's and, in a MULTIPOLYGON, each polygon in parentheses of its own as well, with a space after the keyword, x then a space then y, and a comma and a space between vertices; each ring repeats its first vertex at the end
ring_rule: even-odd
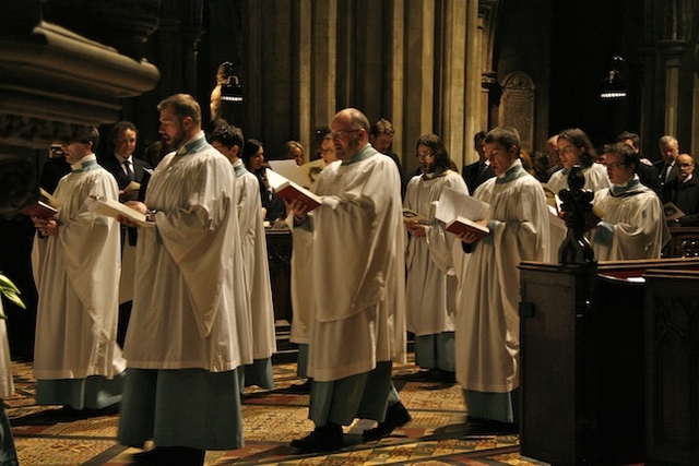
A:
POLYGON ((594 258, 660 259, 670 232, 660 198, 636 175, 638 154, 627 144, 617 143, 604 154, 604 162, 612 188, 597 191, 592 201, 604 213, 591 234, 594 258))

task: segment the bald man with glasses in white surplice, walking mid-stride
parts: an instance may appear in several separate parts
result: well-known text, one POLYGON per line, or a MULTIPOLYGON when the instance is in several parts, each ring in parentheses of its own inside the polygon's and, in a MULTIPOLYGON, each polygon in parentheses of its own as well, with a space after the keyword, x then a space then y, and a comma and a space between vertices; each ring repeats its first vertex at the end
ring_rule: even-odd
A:
POLYGON ((292 442, 303 452, 342 447, 342 426, 355 418, 379 421, 364 432, 367 440, 410 420, 391 383, 392 361, 405 360, 399 170, 368 143, 369 121, 359 110, 341 110, 330 128, 342 163, 328 165, 313 186, 322 204, 310 213, 301 201, 288 204, 294 253, 310 246, 315 287, 308 375, 316 429, 292 442), (312 242, 297 241, 308 235, 312 242))

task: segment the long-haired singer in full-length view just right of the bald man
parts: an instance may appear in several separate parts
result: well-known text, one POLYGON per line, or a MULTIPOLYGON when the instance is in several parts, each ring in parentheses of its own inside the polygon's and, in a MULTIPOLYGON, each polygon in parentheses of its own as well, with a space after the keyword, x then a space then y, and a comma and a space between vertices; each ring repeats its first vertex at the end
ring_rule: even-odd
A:
POLYGON ((449 383, 454 382, 457 276, 451 251, 455 236, 435 218, 433 202, 446 187, 463 195, 469 195, 469 188, 437 134, 420 136, 416 151, 422 175, 407 182, 403 206, 426 220, 405 220, 410 234, 405 253, 406 327, 415 334, 415 363, 427 369, 423 375, 449 383))

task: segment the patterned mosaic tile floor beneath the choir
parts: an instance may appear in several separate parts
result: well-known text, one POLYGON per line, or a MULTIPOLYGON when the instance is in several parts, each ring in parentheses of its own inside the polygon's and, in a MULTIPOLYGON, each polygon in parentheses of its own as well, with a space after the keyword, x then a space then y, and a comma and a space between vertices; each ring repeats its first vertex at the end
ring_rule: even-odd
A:
MULTIPOLYGON (((413 420, 390 438, 362 443, 371 421, 345 428, 346 446, 333 454, 298 455, 288 446, 312 430, 308 395, 289 393, 298 383, 294 363, 274 367, 274 391, 246 390, 242 418, 246 446, 208 452, 208 466, 223 465, 544 465, 519 455, 518 435, 463 434, 465 407, 457 385, 412 380, 413 365, 394 368, 401 399, 413 420)), ((32 367, 15 363, 15 395, 5 399, 17 454, 26 466, 119 466, 138 452, 116 441, 118 414, 78 418, 60 406, 37 406, 32 367)))

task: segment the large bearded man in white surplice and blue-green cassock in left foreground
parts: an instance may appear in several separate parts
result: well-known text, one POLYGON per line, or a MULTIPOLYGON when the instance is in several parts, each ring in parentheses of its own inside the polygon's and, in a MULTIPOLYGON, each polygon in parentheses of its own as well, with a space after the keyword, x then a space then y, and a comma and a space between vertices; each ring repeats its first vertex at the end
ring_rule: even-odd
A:
POLYGON ((252 347, 236 176, 206 142, 192 96, 157 109, 175 152, 151 177, 145 203, 127 203, 153 226, 139 227, 119 442, 154 441, 135 464, 199 466, 206 450, 242 446, 238 368, 252 362, 252 347))

